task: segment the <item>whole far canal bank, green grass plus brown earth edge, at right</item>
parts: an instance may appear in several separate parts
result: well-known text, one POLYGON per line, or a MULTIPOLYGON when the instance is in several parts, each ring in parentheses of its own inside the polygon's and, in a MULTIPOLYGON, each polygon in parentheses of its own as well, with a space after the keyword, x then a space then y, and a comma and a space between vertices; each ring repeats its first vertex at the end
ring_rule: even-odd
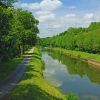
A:
POLYGON ((88 62, 88 64, 93 65, 95 68, 100 69, 100 54, 91 54, 81 51, 66 50, 63 48, 47 48, 47 49, 52 50, 54 52, 59 51, 61 54, 70 56, 72 58, 81 59, 83 61, 88 62))

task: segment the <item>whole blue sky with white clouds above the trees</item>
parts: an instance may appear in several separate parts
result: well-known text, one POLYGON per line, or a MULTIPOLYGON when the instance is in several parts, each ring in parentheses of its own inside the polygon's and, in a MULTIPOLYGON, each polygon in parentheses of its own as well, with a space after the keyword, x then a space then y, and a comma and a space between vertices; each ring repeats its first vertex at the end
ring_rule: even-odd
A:
POLYGON ((19 0, 14 7, 32 12, 39 20, 40 37, 100 21, 100 0, 19 0))

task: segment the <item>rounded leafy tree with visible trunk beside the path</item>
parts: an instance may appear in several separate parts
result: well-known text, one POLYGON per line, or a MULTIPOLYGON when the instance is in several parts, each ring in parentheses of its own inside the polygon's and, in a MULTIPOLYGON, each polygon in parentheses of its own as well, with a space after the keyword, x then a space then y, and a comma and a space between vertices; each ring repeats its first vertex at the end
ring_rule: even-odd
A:
POLYGON ((25 45, 33 45, 36 42, 37 33, 39 33, 38 21, 28 11, 16 9, 14 13, 11 34, 16 37, 20 53, 23 54, 25 45))

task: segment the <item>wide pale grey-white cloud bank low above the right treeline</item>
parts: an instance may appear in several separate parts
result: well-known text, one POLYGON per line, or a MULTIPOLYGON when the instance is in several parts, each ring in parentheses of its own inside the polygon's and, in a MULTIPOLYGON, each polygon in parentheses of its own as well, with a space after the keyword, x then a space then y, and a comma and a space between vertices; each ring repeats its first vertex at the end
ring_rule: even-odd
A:
POLYGON ((100 21, 100 14, 96 13, 66 13, 63 16, 57 16, 46 20, 39 25, 41 37, 57 35, 69 27, 87 27, 91 22, 100 21))

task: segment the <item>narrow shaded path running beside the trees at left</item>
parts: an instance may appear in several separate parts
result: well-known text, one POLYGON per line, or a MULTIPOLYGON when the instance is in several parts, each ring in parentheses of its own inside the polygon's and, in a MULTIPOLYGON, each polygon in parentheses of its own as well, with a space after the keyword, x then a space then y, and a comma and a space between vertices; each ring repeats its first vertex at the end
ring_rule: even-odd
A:
POLYGON ((27 68, 27 63, 29 62, 34 48, 32 48, 24 60, 18 65, 15 71, 13 71, 5 80, 0 82, 0 100, 4 100, 4 96, 10 93, 10 91, 16 86, 16 84, 20 81, 27 68))

